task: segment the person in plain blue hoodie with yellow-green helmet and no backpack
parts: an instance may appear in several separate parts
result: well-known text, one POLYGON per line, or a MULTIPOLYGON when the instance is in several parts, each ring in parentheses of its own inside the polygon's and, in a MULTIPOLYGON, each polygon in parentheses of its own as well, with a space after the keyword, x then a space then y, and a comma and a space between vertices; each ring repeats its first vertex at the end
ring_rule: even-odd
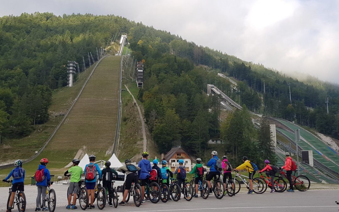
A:
POLYGON ((138 171, 138 175, 142 190, 142 202, 145 202, 145 186, 146 182, 148 181, 149 172, 152 171, 151 161, 147 160, 148 155, 149 154, 147 152, 143 152, 142 160, 140 160, 138 163, 138 167, 140 168, 140 170, 138 171))

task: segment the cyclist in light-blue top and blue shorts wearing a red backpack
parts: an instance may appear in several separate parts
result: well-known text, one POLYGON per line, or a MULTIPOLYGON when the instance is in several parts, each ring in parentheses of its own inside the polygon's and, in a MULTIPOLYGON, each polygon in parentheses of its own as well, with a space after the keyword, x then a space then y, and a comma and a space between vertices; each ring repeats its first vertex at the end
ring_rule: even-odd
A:
POLYGON ((88 197, 91 196, 91 202, 87 206, 88 209, 95 208, 93 203, 94 203, 94 197, 95 197, 94 196, 94 189, 95 189, 95 185, 96 185, 96 182, 97 182, 97 176, 96 176, 97 173, 96 172, 98 172, 98 175, 101 177, 101 169, 99 168, 99 165, 97 163, 94 163, 95 162, 95 158, 96 158, 95 155, 89 155, 88 156, 89 164, 87 164, 85 166, 85 170, 84 170, 84 174, 85 174, 85 186, 86 186, 86 189, 87 189, 88 197), (87 169, 87 167, 89 165, 92 165, 92 166, 95 167, 95 171, 96 172, 94 173, 94 179, 93 180, 87 180, 86 179, 86 169, 87 169))

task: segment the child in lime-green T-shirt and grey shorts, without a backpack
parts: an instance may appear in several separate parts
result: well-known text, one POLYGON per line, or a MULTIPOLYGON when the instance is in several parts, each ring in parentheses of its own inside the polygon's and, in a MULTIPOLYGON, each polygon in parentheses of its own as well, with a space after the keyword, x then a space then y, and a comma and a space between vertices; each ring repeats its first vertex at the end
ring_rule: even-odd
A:
POLYGON ((81 174, 82 174, 82 168, 79 167, 80 160, 79 159, 73 159, 73 167, 68 169, 68 171, 65 172, 64 176, 66 176, 68 173, 71 173, 71 180, 69 181, 68 186, 68 205, 66 206, 66 209, 77 209, 75 206, 75 203, 77 201, 77 193, 79 189, 79 181, 81 180, 81 174), (72 193, 73 193, 73 204, 71 205, 71 199, 72 199, 72 193))

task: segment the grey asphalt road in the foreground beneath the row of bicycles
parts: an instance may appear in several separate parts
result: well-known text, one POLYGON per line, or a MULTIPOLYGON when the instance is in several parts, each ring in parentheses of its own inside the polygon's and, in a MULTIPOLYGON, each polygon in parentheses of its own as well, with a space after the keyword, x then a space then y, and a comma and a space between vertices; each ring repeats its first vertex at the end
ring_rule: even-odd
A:
MULTIPOLYGON (((121 195, 121 193, 119 193, 121 195)), ((59 196, 60 197, 60 196, 59 196)), ((29 198, 34 198, 29 197, 29 198)), ((121 199, 121 197, 119 197, 121 199)), ((1 198, 1 200, 4 200, 1 198)), ((60 201, 65 202, 65 198, 57 199, 58 205, 60 201)), ((130 201, 133 201, 131 199, 130 201)), ((214 195, 210 195, 206 200, 199 198, 193 198, 191 201, 180 199, 179 201, 170 201, 162 203, 159 201, 157 204, 151 202, 145 202, 140 207, 135 207, 134 204, 128 203, 125 206, 106 207, 103 211, 338 211, 339 206, 335 204, 335 201, 339 201, 339 190, 308 190, 306 192, 296 191, 294 193, 268 193, 263 194, 251 194, 239 193, 236 196, 229 197, 224 196, 221 200, 216 199, 214 195)), ((1 201, 1 204, 5 204, 5 201, 1 201)), ((3 205, 1 205, 1 208, 3 205)), ((96 205, 95 205, 96 206, 96 205)), ((34 205, 27 207, 26 211, 34 211, 34 205)), ((97 206, 96 206, 97 207, 97 206)), ((12 211, 17 211, 14 209, 12 211)), ((64 206, 58 206, 55 211, 68 211, 64 206)), ((81 211, 78 206, 77 211, 81 211)), ((100 211, 98 208, 91 211, 100 211)))

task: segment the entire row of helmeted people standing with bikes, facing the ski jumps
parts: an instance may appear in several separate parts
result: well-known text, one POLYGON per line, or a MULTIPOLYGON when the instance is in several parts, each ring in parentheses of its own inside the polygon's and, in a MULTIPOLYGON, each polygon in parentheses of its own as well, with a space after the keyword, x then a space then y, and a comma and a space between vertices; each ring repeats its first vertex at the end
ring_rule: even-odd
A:
MULTIPOLYGON (((85 187, 88 192, 88 209, 95 208, 94 206, 94 198, 95 198, 95 188, 97 185, 97 175, 99 175, 100 180, 102 180, 102 187, 104 187, 107 190, 112 190, 112 183, 111 181, 114 179, 114 175, 118 176, 117 171, 123 172, 126 174, 125 176, 125 183, 124 183, 124 190, 123 197, 121 202, 119 203, 120 206, 124 206, 126 202, 126 198, 128 195, 128 192, 131 189, 132 184, 139 184, 141 186, 141 205, 145 201, 149 201, 149 199, 145 198, 145 186, 150 181, 156 181, 158 184, 167 185, 167 187, 170 186, 170 180, 173 180, 173 175, 177 174, 177 182, 179 185, 179 188, 182 188, 182 186, 185 185, 185 178, 186 178, 186 167, 184 166, 184 160, 179 159, 179 167, 175 170, 173 173, 169 167, 167 166, 167 161, 162 160, 161 166, 159 165, 159 161, 157 159, 153 160, 153 166, 151 165, 151 161, 149 161, 148 158, 149 154, 147 152, 142 153, 142 159, 139 161, 138 166, 134 166, 132 164, 131 159, 125 160, 125 165, 122 167, 119 167, 117 170, 114 170, 111 168, 111 162, 106 161, 104 163, 105 168, 101 171, 100 167, 97 163, 95 163, 96 156, 90 155, 89 156, 89 164, 85 166, 85 169, 82 170, 81 167, 79 167, 80 160, 79 159, 73 159, 73 167, 68 169, 64 176, 70 176, 69 179, 69 186, 68 186, 68 198, 67 198, 67 206, 66 209, 77 209, 76 206, 76 200, 77 200, 77 194, 79 189, 79 182, 81 180, 81 176, 84 174, 85 176, 85 187), (69 175, 71 174, 71 175, 69 175), (73 196, 73 201, 72 201, 73 196)), ((271 177, 272 182, 272 190, 271 193, 274 192, 274 176, 278 172, 278 170, 285 169, 287 174, 287 179, 290 182, 290 189, 287 190, 288 192, 294 192, 293 190, 293 182, 292 182, 292 170, 293 166, 295 164, 293 163, 292 158, 290 157, 290 154, 288 152, 285 153, 286 160, 285 160, 285 166, 283 167, 276 167, 270 164, 269 160, 265 160, 265 168, 260 170, 259 173, 265 172, 267 177, 271 177), (277 170, 278 169, 278 170, 277 170)), ((224 186, 224 194, 226 194, 227 188, 226 183, 231 183, 233 190, 234 190, 234 182, 232 181, 232 171, 240 171, 240 170, 246 170, 248 172, 249 177, 249 190, 247 194, 253 193, 253 177, 258 170, 255 163, 248 160, 246 156, 243 158, 243 163, 239 165, 237 168, 232 169, 231 163, 228 161, 227 156, 222 156, 222 160, 218 158, 217 151, 211 152, 211 159, 207 162, 207 166, 210 167, 210 171, 208 172, 208 175, 205 177, 207 181, 207 186, 209 192, 212 190, 211 180, 219 180, 221 173, 223 173, 223 186, 224 186)), ((40 165, 35 173, 35 179, 37 181, 37 198, 36 198, 36 209, 35 211, 47 211, 48 207, 45 204, 46 201, 46 189, 47 186, 50 185, 51 181, 51 175, 49 173, 49 170, 46 168, 48 163, 47 158, 42 158, 40 160, 40 165), (42 203, 41 203, 42 201, 42 203)), ((13 177, 12 182, 12 190, 11 194, 9 196, 9 202, 7 212, 11 212, 14 201, 15 193, 18 191, 24 191, 24 177, 25 177, 25 170, 22 168, 22 160, 16 160, 14 163, 15 168, 8 174, 8 176, 3 179, 5 182, 10 177, 13 177)), ((198 185, 199 182, 202 181, 204 172, 206 170, 202 167, 201 159, 196 159, 196 165, 193 167, 190 174, 194 174, 195 179, 195 198, 198 198, 198 185)), ((169 197, 169 196, 168 196, 169 197)), ((171 197, 168 198, 169 201, 171 201, 171 197)), ((109 206, 112 206, 112 196, 108 192, 108 204, 109 206)))

